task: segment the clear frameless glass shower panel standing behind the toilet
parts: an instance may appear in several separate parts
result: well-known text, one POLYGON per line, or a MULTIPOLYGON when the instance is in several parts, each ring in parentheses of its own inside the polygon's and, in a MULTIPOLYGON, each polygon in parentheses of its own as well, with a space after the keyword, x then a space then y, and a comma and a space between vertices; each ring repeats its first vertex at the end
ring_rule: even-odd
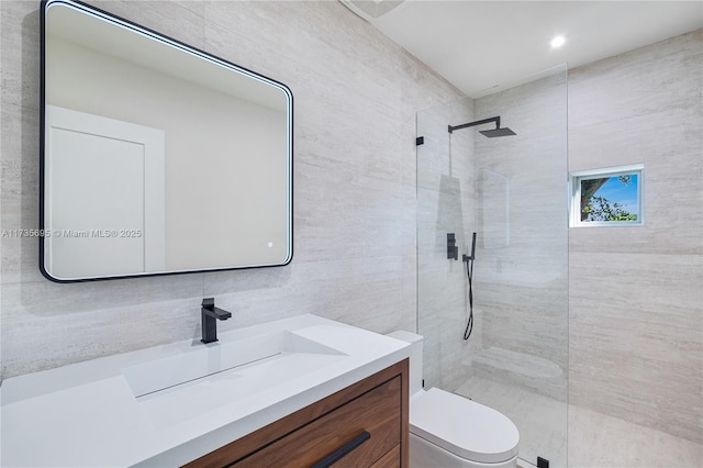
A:
MULTIPOLYGON (((504 132, 507 133, 507 132, 504 132)), ((417 328, 425 388, 509 416, 520 457, 567 466, 567 74, 417 113, 417 328), (515 135, 487 137, 501 118, 515 135), (477 233, 472 275, 468 264, 477 233), (457 259, 448 258, 454 235, 457 259)), ((470 422, 467 422, 470 424, 470 422)))

